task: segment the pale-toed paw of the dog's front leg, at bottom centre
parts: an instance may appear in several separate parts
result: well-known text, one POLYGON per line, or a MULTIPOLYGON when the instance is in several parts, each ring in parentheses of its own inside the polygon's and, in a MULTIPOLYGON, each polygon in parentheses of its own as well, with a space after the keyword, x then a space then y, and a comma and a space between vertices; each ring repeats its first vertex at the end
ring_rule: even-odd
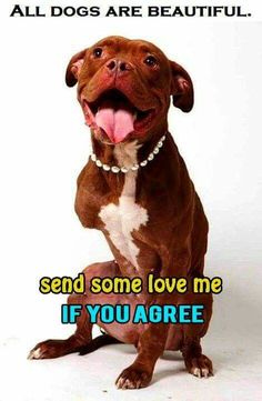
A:
POLYGON ((141 367, 131 367, 124 369, 122 373, 118 377, 115 385, 118 389, 140 389, 147 387, 152 379, 152 374, 147 372, 141 367))

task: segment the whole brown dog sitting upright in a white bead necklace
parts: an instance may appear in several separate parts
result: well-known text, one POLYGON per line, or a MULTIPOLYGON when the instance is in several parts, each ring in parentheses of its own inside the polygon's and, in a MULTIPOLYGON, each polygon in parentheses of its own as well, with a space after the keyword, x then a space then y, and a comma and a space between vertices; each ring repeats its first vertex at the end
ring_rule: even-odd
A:
MULTIPOLYGON (((93 154, 78 179, 75 211, 83 227, 101 230, 114 261, 84 270, 93 277, 202 277, 208 221, 185 164, 168 132, 170 97, 182 111, 193 107, 188 72, 152 43, 121 37, 105 38, 75 54, 67 70, 67 84, 78 82, 78 99, 91 128, 93 154)), ((121 389, 149 384, 164 350, 181 350, 185 367, 198 377, 212 374, 200 338, 208 330, 212 295, 73 294, 69 303, 203 304, 202 324, 104 324, 107 342, 133 343, 135 361, 118 378, 121 389), (112 340, 113 341, 113 340, 112 340)), ((39 343, 32 359, 57 358, 84 351, 92 343, 85 311, 67 340, 39 343)), ((105 341, 104 341, 105 342, 105 341)))

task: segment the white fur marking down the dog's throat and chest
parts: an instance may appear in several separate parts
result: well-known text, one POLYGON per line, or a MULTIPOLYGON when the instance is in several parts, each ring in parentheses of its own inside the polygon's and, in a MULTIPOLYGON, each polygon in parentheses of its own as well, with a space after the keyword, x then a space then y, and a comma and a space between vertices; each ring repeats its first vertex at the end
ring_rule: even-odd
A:
MULTIPOLYGON (((137 141, 115 147, 119 164, 129 167, 137 163, 137 141)), ((139 248, 133 242, 132 231, 147 223, 148 212, 135 203, 137 171, 124 174, 124 186, 119 204, 102 207, 99 217, 103 221, 109 237, 119 252, 135 268, 139 268, 139 248)))

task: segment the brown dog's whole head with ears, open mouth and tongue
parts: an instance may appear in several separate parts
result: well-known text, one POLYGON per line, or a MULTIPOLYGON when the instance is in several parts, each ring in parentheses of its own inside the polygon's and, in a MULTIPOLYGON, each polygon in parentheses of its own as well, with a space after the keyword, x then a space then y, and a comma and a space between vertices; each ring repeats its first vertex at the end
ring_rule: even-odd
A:
POLYGON ((73 56, 66 81, 69 87, 78 82, 85 121, 105 143, 143 142, 159 129, 167 129, 170 96, 183 111, 193 107, 188 72, 142 40, 102 39, 73 56))

